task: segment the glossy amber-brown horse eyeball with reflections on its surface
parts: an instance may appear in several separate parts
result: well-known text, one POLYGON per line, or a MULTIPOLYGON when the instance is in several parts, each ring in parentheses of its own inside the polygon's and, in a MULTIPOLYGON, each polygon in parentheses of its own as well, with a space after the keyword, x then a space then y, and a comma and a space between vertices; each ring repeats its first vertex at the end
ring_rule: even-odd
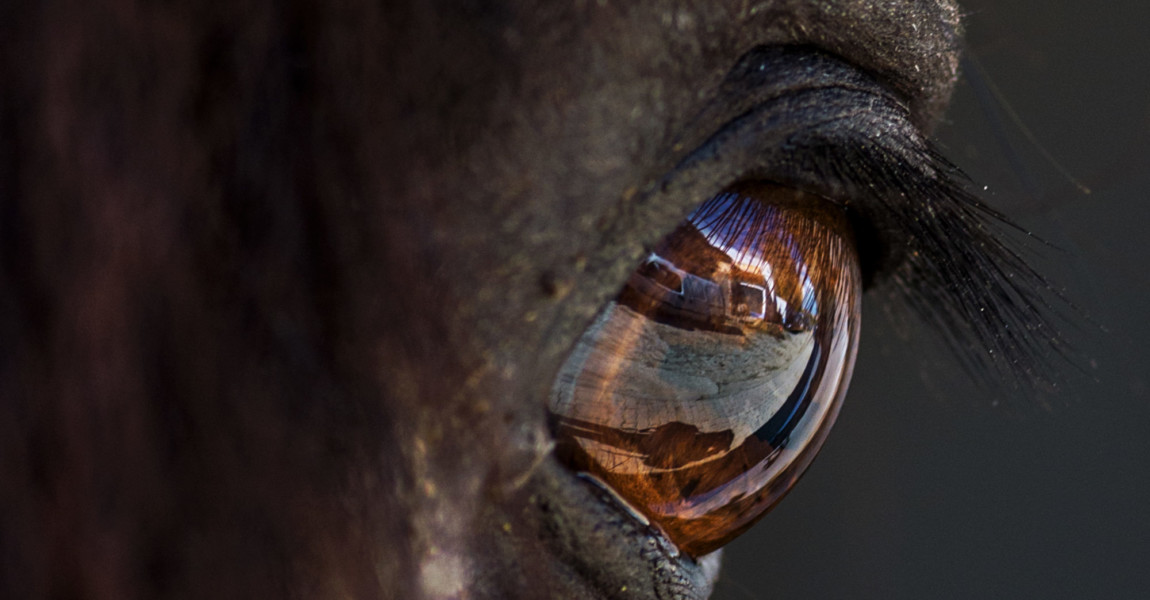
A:
POLYGON ((557 454, 691 555, 810 464, 850 380, 861 277, 843 211, 770 184, 699 206, 631 274, 553 386, 557 454))

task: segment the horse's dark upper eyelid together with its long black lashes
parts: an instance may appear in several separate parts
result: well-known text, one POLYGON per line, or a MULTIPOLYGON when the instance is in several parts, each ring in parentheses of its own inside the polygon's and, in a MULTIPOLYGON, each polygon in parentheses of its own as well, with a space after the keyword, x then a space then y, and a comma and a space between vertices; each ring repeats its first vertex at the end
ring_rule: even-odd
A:
POLYGON ((868 289, 938 332, 976 383, 1049 401, 1056 361, 1074 364, 1055 317, 1074 306, 1021 256, 1035 238, 977 198, 881 76, 808 47, 756 48, 699 121, 724 117, 677 169, 727 162, 728 183, 773 180, 844 207, 868 289))

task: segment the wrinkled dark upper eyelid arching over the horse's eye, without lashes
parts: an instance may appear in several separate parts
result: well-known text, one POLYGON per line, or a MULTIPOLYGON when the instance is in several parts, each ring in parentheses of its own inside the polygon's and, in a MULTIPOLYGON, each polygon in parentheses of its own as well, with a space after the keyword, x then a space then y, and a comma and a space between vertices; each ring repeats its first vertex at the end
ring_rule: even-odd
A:
MULTIPOLYGON (((827 185, 830 178, 815 177, 802 166, 796 169, 781 151, 787 149, 789 137, 818 136, 836 120, 859 124, 853 114, 867 105, 873 118, 884 118, 887 130, 903 129, 908 137, 918 137, 906 102, 849 62, 810 46, 753 48, 735 61, 692 117, 672 125, 661 144, 662 157, 636 182, 638 185, 622 193, 620 208, 601 230, 597 246, 614 246, 618 259, 616 240, 630 239, 637 259, 642 247, 654 244, 696 205, 749 178, 844 200, 849 182, 827 185), (828 115, 825 108, 833 98, 843 99, 845 109, 828 115), (796 110, 792 105, 802 101, 822 108, 796 110), (883 114, 875 110, 880 107, 883 114), (766 124, 756 124, 757 118, 766 124), (770 118, 776 122, 770 123, 770 118), (750 132, 747 126, 757 131, 750 132)), ((833 145, 834 140, 828 138, 827 143, 833 145)))

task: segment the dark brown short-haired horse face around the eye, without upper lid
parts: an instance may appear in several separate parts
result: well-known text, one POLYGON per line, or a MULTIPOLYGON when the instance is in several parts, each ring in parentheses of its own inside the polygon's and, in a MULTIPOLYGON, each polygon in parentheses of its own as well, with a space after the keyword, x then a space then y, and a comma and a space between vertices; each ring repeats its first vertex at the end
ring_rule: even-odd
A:
POLYGON ((959 36, 946 0, 3 13, 5 598, 706 597, 718 555, 555 461, 551 383, 769 169, 676 170, 741 56, 839 56, 925 130, 959 36))

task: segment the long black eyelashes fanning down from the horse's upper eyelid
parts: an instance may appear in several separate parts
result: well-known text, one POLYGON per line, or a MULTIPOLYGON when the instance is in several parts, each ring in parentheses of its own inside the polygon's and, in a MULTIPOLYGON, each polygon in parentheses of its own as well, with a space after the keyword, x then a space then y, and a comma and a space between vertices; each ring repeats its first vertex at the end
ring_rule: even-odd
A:
POLYGON ((1007 233, 1021 228, 981 202, 961 170, 918 134, 841 139, 807 156, 856 206, 872 205, 897 228, 902 256, 885 274, 891 299, 938 331, 974 379, 1048 402, 1041 392, 1063 379, 1056 361, 1075 361, 1055 323, 1057 305, 1074 306, 1011 244, 1007 233))

